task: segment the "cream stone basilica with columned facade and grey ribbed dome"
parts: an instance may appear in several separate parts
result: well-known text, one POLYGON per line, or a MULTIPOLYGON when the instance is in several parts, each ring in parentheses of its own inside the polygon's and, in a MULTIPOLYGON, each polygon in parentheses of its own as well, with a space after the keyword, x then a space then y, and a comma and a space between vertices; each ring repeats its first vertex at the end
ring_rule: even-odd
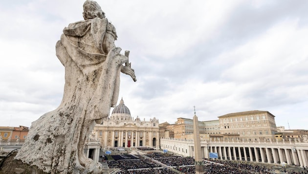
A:
POLYGON ((105 147, 159 147, 158 119, 146 121, 138 116, 134 119, 131 111, 124 105, 123 98, 110 117, 102 124, 96 124, 93 134, 105 147))

